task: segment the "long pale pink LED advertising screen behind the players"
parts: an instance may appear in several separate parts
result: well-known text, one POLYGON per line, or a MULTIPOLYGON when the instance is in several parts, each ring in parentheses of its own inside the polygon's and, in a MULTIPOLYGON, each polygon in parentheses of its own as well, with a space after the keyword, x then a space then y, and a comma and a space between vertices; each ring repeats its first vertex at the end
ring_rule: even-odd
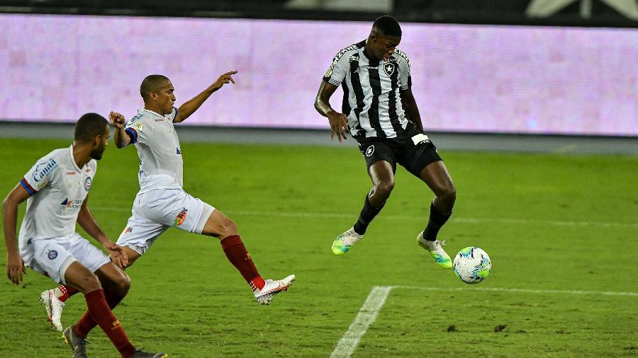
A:
MULTIPOLYGON (((0 15, 0 119, 130 117, 147 74, 183 103, 237 69, 188 125, 328 128, 332 57, 370 23, 0 15)), ((430 131, 638 135, 638 30, 403 24, 430 131)), ((340 108, 342 94, 332 105, 340 108)))

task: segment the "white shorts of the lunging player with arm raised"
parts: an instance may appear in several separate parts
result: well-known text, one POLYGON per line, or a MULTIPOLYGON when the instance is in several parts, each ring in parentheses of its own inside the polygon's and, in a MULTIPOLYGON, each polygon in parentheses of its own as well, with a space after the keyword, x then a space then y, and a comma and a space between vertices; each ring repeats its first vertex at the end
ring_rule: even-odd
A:
POLYGON ((142 192, 133 202, 133 216, 128 218, 118 238, 119 246, 128 246, 142 255, 169 227, 201 233, 214 207, 181 189, 158 189, 142 192))

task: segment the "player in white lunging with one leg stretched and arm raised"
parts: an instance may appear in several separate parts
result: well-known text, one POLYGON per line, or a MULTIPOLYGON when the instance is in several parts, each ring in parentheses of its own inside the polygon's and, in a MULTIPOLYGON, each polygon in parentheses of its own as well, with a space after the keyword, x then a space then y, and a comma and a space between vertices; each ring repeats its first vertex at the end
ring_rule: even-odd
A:
MULTIPOLYGON (((236 73, 230 71, 221 75, 205 91, 179 108, 173 107, 175 95, 171 81, 162 75, 150 75, 140 86, 144 108, 128 122, 123 115, 111 112, 109 117, 116 127, 116 146, 123 148, 135 144, 140 156, 140 191, 133 202, 133 215, 117 243, 124 247, 130 266, 170 227, 215 236, 220 239, 228 260, 250 284, 259 304, 267 305, 275 294, 288 289, 295 275, 280 280, 264 280, 244 247, 235 222, 182 189, 183 163, 174 123, 186 120, 225 83, 235 83, 233 74, 236 73)), ((43 295, 54 298, 47 307, 52 311, 50 319, 55 326, 61 325, 62 303, 75 292, 65 286, 43 292, 43 295)))

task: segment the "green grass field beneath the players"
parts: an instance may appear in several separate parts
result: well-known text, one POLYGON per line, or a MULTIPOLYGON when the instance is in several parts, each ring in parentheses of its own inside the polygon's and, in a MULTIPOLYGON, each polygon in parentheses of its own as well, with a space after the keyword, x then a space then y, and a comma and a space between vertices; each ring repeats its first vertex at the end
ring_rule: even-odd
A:
MULTIPOLYGON (((0 143, 3 196, 36 159, 69 145, 0 143)), ((457 204, 440 238, 451 255, 480 246, 493 262, 486 282, 467 285, 415 245, 432 194, 403 168, 366 237, 336 257, 332 239, 353 224, 370 187, 356 149, 182 150, 185 189, 237 222, 264 277, 297 281, 258 306, 216 239, 169 230, 127 270, 133 284, 115 312, 135 345, 170 357, 328 357, 374 287, 401 286, 352 357, 638 355, 637 157, 443 151, 457 204)), ((137 171, 135 149, 112 144, 99 164, 89 207, 113 240, 137 171)), ((19 287, 0 280, 0 357, 70 356, 38 303, 54 286, 30 270, 19 287)), ((74 296, 62 322, 84 307, 74 296)), ((89 340, 91 357, 118 356, 101 330, 89 340)))

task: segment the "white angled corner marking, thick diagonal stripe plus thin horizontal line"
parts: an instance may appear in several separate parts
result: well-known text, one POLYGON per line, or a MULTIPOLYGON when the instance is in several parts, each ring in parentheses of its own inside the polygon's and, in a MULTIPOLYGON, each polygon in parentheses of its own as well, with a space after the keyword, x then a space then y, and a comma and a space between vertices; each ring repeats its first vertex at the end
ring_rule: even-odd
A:
POLYGON ((576 290, 560 290, 560 289, 503 289, 498 287, 472 287, 469 288, 445 288, 445 287, 416 287, 416 286, 375 286, 370 291, 368 299, 359 310, 357 318, 348 328, 347 332, 337 342, 337 347, 332 351, 330 357, 347 358, 359 345, 359 340, 366 333, 369 326, 374 323, 376 316, 379 315, 381 307, 384 306, 388 294, 392 289, 419 289, 424 291, 500 291, 500 292, 520 292, 525 294, 595 294, 607 296, 638 296, 637 292, 610 292, 610 291, 576 291, 576 290))

